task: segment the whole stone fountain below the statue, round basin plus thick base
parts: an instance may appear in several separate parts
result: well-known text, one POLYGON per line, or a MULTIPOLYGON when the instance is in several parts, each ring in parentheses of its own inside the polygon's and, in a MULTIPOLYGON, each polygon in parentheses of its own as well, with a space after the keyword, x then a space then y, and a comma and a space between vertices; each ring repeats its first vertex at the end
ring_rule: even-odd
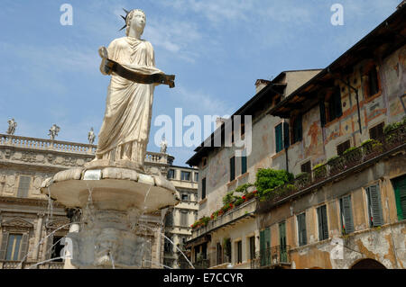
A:
POLYGON ((80 230, 67 236, 73 245, 70 263, 78 268, 141 267, 148 250, 146 238, 135 235, 137 220, 180 202, 160 173, 95 162, 48 178, 41 190, 67 208, 82 210, 80 230))

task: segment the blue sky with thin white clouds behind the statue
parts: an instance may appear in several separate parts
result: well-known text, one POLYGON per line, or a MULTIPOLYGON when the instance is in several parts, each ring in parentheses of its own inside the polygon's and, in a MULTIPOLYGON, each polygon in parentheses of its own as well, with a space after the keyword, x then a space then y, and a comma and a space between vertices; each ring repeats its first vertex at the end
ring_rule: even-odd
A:
MULTIPOLYGON (((158 86, 148 150, 158 151, 154 118, 232 114, 254 96, 258 78, 283 70, 327 67, 392 14, 401 0, 2 0, 0 4, 0 133, 87 142, 103 121, 109 77, 97 49, 123 37, 122 8, 147 15, 143 39, 157 67, 176 75, 176 88, 158 86), (73 25, 60 24, 60 5, 73 7, 73 25), (332 4, 344 25, 330 22, 332 4)), ((185 128, 186 129, 186 128, 185 128)), ((194 148, 168 148, 184 166, 194 148)))

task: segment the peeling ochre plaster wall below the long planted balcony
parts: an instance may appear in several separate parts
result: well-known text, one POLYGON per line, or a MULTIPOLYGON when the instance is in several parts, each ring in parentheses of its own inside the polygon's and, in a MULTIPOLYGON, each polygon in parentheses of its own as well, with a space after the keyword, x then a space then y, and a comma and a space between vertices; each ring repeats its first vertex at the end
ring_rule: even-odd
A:
POLYGON ((406 266, 406 220, 399 221, 391 180, 405 175, 406 155, 398 154, 386 158, 374 166, 324 185, 318 191, 303 195, 293 202, 285 202, 269 213, 257 217, 259 229, 271 228, 272 246, 279 245, 279 223, 287 222, 287 242, 291 246, 291 260, 294 268, 350 268, 363 258, 377 260, 387 268, 406 266), (370 229, 368 221, 365 188, 379 184, 383 208, 383 226, 370 229), (342 236, 339 199, 351 195, 355 232, 342 236), (327 204, 327 240, 318 240, 317 208, 327 204), (308 245, 298 246, 296 216, 306 211, 308 245), (337 238, 345 247, 341 248, 344 259, 330 258, 330 252, 337 247, 337 238))

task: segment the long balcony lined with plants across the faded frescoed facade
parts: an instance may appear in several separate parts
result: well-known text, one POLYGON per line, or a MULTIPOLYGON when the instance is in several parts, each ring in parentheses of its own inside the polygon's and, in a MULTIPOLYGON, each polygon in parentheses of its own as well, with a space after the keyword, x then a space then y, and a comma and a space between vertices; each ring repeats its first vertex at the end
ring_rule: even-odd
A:
POLYGON ((406 124, 386 131, 380 139, 366 141, 361 147, 350 148, 341 157, 330 158, 324 165, 315 166, 311 173, 296 177, 291 183, 276 187, 257 202, 257 213, 266 213, 272 208, 299 194, 307 193, 328 182, 354 174, 376 161, 406 148, 406 124))

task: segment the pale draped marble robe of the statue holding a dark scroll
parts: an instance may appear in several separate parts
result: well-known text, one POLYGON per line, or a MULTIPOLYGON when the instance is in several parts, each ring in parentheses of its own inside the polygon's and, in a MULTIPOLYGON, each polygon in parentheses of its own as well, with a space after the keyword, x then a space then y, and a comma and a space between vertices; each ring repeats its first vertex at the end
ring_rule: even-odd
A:
MULTIPOLYGON (((155 67, 150 42, 132 37, 115 39, 108 58, 144 75, 163 74, 155 67)), ((97 159, 131 160, 143 166, 152 118, 156 84, 134 83, 112 74, 107 89, 106 112, 98 134, 97 159)))

